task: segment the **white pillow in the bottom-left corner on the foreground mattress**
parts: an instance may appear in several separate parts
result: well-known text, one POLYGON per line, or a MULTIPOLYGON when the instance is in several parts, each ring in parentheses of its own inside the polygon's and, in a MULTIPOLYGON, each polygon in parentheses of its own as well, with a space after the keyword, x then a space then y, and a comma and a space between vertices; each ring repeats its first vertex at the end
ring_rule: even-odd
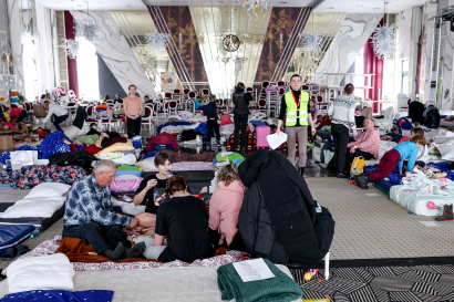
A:
POLYGON ((64 253, 19 259, 8 267, 10 293, 34 290, 73 291, 74 269, 64 253))

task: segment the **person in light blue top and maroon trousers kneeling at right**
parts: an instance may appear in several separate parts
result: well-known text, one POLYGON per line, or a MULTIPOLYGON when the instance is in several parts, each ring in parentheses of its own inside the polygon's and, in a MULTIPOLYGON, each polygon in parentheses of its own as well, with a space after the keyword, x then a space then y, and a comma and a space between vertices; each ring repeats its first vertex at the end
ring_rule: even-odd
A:
POLYGON ((361 188, 368 188, 370 181, 376 181, 388 177, 398 166, 399 174, 403 175, 403 162, 409 159, 406 177, 411 177, 411 171, 417 173, 414 166, 417 153, 421 146, 427 144, 425 137, 421 134, 413 136, 410 142, 399 144, 393 149, 386 152, 380 160, 376 171, 369 174, 355 175, 354 180, 361 188))

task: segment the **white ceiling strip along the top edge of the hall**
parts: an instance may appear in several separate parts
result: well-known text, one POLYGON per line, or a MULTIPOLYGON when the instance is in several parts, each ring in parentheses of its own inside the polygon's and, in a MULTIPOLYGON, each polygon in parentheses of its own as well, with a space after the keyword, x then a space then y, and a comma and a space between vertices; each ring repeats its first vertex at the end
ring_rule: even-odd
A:
MULTIPOLYGON (((27 0, 22 0, 27 7, 27 0)), ((86 0, 37 0, 54 10, 85 10, 86 0)), ((388 0, 388 12, 399 13, 412 7, 423 6, 425 0, 388 0)), ((313 0, 317 12, 382 13, 382 0, 313 0)), ((146 6, 239 6, 243 0, 90 0, 92 10, 146 10, 146 6)), ((268 0, 271 7, 310 7, 312 0, 268 0)))

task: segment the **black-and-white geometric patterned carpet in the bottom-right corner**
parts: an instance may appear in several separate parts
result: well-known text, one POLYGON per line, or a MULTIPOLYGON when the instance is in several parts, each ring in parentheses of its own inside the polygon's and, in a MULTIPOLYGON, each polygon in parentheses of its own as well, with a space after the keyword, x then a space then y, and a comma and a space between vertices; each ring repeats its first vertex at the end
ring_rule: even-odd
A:
POLYGON ((451 302, 454 301, 454 265, 340 268, 324 280, 323 270, 310 281, 305 271, 290 270, 303 299, 332 302, 451 302))

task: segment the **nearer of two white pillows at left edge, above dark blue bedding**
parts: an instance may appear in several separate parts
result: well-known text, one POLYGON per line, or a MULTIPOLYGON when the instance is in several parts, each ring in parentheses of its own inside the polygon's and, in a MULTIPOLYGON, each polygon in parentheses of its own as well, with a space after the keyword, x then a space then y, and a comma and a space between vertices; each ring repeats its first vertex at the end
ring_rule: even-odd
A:
POLYGON ((49 218, 63 207, 66 197, 49 197, 37 199, 22 199, 9 207, 4 212, 0 212, 0 218, 23 218, 41 217, 49 218))

